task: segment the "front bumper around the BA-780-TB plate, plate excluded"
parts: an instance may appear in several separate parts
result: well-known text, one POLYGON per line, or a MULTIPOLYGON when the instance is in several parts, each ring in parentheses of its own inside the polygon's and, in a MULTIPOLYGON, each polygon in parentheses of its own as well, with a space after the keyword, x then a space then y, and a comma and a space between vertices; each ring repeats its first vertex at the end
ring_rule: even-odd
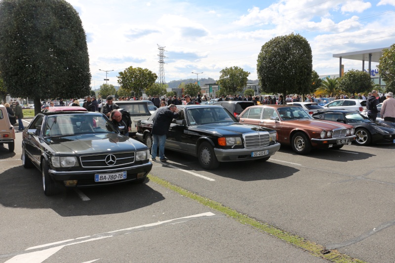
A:
POLYGON ((103 185, 113 185, 124 182, 131 182, 146 177, 152 169, 152 162, 139 165, 117 168, 117 169, 97 169, 97 170, 80 170, 80 171, 56 171, 49 169, 49 175, 58 182, 78 180, 77 187, 93 187, 103 185), (95 182, 95 174, 114 174, 126 171, 126 179, 108 182, 95 182), (144 173, 144 175, 142 175, 144 173), (138 176, 138 174, 140 174, 138 176))

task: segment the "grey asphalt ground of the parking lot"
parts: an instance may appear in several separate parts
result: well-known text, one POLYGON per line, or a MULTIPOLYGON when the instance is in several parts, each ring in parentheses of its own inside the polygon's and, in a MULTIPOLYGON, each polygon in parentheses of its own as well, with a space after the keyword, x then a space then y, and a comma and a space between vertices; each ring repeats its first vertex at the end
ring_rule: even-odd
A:
MULTIPOLYGON (((40 172, 21 166, 20 138, 15 153, 0 148, 0 234, 7 240, 0 262, 17 262, 32 247, 49 255, 36 262, 324 261, 153 182, 46 197, 40 172), (172 228, 144 226, 169 220, 172 228), (136 226, 150 230, 129 229, 136 226), (122 234, 110 234, 116 230, 122 234), (73 246, 45 246, 54 242, 73 246)), ((166 151, 170 160, 154 162, 151 174, 328 250, 393 263, 394 151, 351 145, 301 156, 284 146, 267 162, 222 163, 214 171, 166 151)))

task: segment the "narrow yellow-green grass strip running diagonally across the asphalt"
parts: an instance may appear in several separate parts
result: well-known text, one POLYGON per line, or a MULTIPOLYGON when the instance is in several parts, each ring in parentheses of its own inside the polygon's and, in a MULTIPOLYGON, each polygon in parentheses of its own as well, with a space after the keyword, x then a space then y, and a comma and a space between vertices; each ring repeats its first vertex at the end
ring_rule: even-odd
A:
POLYGON ((358 260, 351 258, 350 256, 347 256, 345 254, 340 253, 338 250, 331 250, 329 253, 325 250, 325 247, 318 245, 314 242, 305 240, 303 237, 288 233, 286 231, 283 231, 281 229, 276 228, 273 225, 269 225, 266 223, 259 222, 247 215, 244 215, 242 213, 237 212, 236 210, 226 207, 222 205, 221 203, 218 203, 216 201, 210 200, 206 197, 203 197, 201 195, 195 194, 193 192, 190 192, 184 188, 178 187, 176 185, 173 185, 163 179, 160 179, 156 176, 153 175, 148 175, 148 178, 150 181, 164 187, 167 189, 170 189, 174 192, 177 192, 185 197, 191 198, 198 203, 208 206, 211 209, 217 210, 218 212, 221 212, 228 217, 231 217, 232 219, 236 220, 237 222, 243 224, 243 225, 250 225, 254 227, 255 229, 261 231, 261 232, 266 232, 270 235, 276 236, 277 238, 292 244, 296 247, 299 247, 301 249, 304 249, 313 256, 320 257, 335 263, 366 263, 365 261, 358 260))

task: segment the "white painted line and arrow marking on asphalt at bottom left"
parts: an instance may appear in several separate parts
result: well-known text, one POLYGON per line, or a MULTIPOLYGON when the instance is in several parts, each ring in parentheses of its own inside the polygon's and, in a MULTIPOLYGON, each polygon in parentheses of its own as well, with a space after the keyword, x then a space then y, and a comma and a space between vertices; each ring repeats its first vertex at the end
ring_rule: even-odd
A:
MULTIPOLYGON (((176 219, 170 219, 170 220, 147 224, 147 225, 133 226, 133 227, 129 227, 129 228, 118 229, 115 231, 100 233, 100 234, 93 235, 93 236, 98 236, 96 238, 94 238, 93 236, 87 236, 87 237, 92 237, 92 238, 89 238, 86 240, 81 240, 78 242, 71 242, 68 244, 61 245, 61 246, 38 250, 38 251, 30 252, 30 253, 19 254, 17 256, 14 256, 10 260, 6 261, 5 263, 20 263, 20 262, 42 263, 46 259, 48 259, 50 256, 54 255, 56 252, 58 252, 59 250, 61 250, 62 248, 66 247, 66 246, 71 246, 71 245, 75 245, 75 244, 80 244, 80 243, 85 243, 85 242, 90 242, 90 241, 95 241, 95 240, 99 240, 99 239, 103 239, 103 238, 112 237, 114 235, 117 235, 117 232, 120 232, 120 231, 133 230, 133 229, 138 229, 138 228, 143 228, 143 227, 151 227, 151 226, 155 226, 155 225, 170 225, 170 224, 166 224, 166 223, 173 222, 173 221, 179 221, 182 219, 193 219, 193 218, 211 217, 211 216, 215 216, 215 214, 213 214, 211 212, 206 212, 206 213, 201 213, 201 214, 197 214, 197 215, 176 218, 176 219), (116 233, 116 234, 113 234, 113 233, 116 233)), ((187 222, 187 221, 183 221, 183 222, 187 222)), ((174 223, 177 223, 177 222, 174 222, 174 223)), ((122 234, 122 233, 118 233, 118 234, 122 234)), ((81 238, 83 238, 83 237, 79 237, 79 238, 75 238, 75 239, 67 239, 67 240, 48 243, 48 244, 44 244, 44 245, 40 245, 40 246, 30 247, 26 250, 49 247, 49 246, 56 245, 56 244, 62 244, 62 243, 67 243, 67 242, 74 241, 74 240, 80 240, 81 238)), ((97 260, 94 260, 94 261, 97 261, 97 260)), ((94 262, 94 261, 89 261, 89 262, 94 262)), ((87 262, 87 263, 89 263, 89 262, 87 262)))

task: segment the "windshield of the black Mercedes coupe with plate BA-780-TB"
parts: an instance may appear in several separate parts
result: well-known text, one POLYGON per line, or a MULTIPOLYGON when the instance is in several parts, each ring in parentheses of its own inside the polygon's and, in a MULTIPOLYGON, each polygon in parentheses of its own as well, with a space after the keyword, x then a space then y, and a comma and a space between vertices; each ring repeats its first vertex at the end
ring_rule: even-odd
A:
POLYGON ((92 133, 117 133, 103 114, 59 114, 46 119, 45 137, 92 133))

